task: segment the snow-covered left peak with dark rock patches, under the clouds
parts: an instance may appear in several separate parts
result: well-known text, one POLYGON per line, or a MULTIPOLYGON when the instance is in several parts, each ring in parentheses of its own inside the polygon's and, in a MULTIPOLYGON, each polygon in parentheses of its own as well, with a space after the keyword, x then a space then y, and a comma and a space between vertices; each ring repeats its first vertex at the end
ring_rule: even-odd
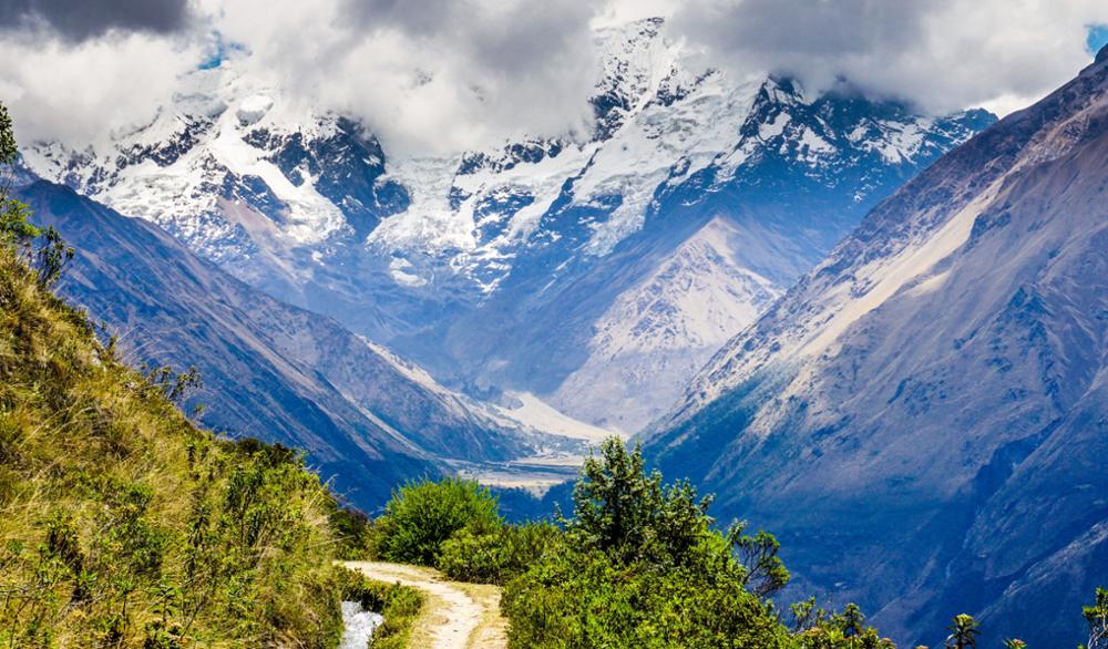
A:
POLYGON ((367 176, 383 171, 379 145, 352 123, 285 102, 278 87, 239 74, 234 60, 195 71, 181 85, 151 124, 80 152, 34 144, 24 150, 28 166, 157 223, 247 278, 266 265, 297 274, 288 250, 355 234, 361 226, 352 213, 389 210, 359 204, 349 188, 343 196, 325 189, 329 179, 312 145, 353 142, 363 155, 343 164, 367 176), (253 260, 259 255, 264 261, 253 260))

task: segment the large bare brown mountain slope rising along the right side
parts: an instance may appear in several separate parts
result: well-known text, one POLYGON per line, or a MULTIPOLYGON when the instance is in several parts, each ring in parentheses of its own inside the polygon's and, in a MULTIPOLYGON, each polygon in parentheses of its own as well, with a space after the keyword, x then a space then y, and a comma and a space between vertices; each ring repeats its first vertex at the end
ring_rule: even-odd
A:
POLYGON ((901 640, 1108 579, 1108 51, 870 213, 647 436, 901 640))

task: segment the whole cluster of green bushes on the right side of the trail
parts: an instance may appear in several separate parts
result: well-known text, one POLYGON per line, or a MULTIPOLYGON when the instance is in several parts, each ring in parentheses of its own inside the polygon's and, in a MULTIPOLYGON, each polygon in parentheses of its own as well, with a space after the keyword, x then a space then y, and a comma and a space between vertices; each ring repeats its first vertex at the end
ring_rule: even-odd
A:
POLYGON ((386 558, 505 584, 512 647, 891 646, 874 643, 856 607, 830 615, 812 601, 786 628, 767 599, 789 578, 777 540, 742 524, 717 532, 710 503, 687 483, 664 486, 640 451, 609 440, 557 526, 505 524, 486 490, 452 478, 406 485, 373 529, 386 558))

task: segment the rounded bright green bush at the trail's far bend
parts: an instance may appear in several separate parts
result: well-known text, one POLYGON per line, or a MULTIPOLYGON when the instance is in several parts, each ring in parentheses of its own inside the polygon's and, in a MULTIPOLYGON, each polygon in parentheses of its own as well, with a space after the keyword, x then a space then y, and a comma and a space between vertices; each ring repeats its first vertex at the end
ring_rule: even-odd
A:
POLYGON ((502 525, 496 498, 476 482, 450 477, 410 482, 392 494, 378 522, 379 554, 390 562, 437 566, 442 544, 469 527, 502 525))

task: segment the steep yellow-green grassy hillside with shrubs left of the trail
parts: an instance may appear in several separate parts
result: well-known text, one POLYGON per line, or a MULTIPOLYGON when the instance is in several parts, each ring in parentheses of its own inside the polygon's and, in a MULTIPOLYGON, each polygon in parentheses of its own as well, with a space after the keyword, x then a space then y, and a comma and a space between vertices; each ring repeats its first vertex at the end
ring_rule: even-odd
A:
POLYGON ((300 454, 194 426, 194 372, 100 344, 27 217, 0 190, 0 646, 335 646, 332 496, 300 454))

